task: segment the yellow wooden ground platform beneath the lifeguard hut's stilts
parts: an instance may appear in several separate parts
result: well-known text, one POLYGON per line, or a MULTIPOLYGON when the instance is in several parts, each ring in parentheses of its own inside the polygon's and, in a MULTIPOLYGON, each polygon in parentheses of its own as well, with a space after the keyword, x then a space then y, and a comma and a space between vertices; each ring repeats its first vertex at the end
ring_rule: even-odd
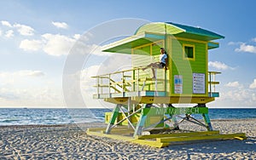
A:
POLYGON ((176 133, 171 134, 150 134, 149 132, 145 132, 145 135, 137 135, 136 137, 133 137, 134 130, 127 129, 126 126, 113 128, 110 134, 105 134, 105 128, 87 129, 86 133, 89 135, 107 137, 113 140, 124 140, 131 143, 157 148, 188 142, 193 143, 195 141, 246 139, 246 135, 244 133, 219 134, 218 130, 203 132, 177 130, 176 133))

